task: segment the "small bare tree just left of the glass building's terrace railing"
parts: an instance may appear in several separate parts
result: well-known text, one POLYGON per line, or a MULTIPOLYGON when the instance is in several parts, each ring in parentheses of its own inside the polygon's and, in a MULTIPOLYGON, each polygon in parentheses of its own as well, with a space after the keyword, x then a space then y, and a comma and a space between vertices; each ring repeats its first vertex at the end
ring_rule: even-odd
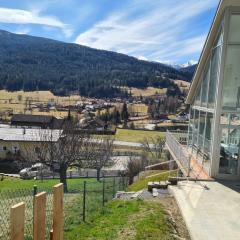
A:
POLYGON ((144 138, 141 145, 143 152, 149 156, 152 161, 156 162, 161 159, 165 140, 161 137, 144 138))

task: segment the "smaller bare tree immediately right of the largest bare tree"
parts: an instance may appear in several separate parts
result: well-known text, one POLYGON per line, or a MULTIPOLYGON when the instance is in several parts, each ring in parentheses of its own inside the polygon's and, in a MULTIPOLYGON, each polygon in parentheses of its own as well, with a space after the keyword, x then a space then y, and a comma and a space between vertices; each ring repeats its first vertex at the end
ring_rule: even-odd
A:
POLYGON ((113 141, 109 136, 98 136, 88 145, 85 154, 85 167, 97 170, 97 180, 103 167, 113 165, 113 141))

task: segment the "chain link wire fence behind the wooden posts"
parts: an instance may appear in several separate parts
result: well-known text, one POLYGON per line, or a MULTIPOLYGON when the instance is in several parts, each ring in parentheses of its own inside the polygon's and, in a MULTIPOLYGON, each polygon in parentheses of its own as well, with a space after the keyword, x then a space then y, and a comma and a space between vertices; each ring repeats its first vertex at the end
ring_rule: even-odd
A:
MULTIPOLYGON (((48 180, 45 180, 48 181, 48 180)), ((114 198, 117 191, 126 189, 128 179, 126 177, 109 177, 96 179, 85 179, 79 182, 69 181, 68 192, 64 194, 64 230, 71 231, 97 209, 114 198)), ((52 187, 38 187, 33 189, 0 190, 0 240, 8 240, 10 233, 10 207, 25 202, 25 239, 33 239, 33 200, 34 195, 39 192, 47 192, 46 206, 46 239, 50 238, 52 228, 52 187)))

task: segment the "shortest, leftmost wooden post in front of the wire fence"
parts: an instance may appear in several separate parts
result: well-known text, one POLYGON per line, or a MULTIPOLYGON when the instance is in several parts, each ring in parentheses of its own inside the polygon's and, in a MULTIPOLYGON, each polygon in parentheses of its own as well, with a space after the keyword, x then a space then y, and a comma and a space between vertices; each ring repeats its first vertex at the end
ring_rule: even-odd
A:
POLYGON ((24 240, 25 203, 21 202, 11 207, 10 239, 24 240))

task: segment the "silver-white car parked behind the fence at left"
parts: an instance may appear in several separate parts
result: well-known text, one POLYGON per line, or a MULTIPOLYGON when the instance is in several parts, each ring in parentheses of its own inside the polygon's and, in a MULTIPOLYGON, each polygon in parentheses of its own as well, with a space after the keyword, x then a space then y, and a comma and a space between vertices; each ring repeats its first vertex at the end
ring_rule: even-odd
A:
POLYGON ((30 168, 24 168, 19 172, 19 175, 22 179, 31 179, 37 176, 46 176, 52 174, 50 167, 42 164, 36 163, 32 165, 30 168))

